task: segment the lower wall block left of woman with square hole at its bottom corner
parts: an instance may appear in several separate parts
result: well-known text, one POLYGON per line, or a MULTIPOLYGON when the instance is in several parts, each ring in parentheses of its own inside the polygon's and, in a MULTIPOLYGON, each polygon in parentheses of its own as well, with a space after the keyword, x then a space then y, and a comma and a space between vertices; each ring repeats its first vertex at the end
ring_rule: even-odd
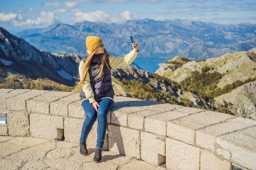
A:
POLYGON ((30 114, 31 136, 45 139, 61 139, 63 136, 63 117, 30 114))

